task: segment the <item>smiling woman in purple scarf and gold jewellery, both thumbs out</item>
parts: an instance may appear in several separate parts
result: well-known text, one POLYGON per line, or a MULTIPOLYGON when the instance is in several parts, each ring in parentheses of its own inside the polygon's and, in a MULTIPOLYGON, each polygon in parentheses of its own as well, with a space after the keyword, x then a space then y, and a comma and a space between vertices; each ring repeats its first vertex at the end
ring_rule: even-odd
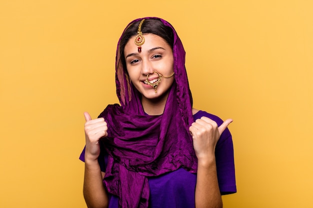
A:
POLYGON ((236 192, 232 120, 192 108, 184 58, 165 20, 125 28, 115 65, 120 106, 93 120, 84 113, 88 208, 220 208, 221 195, 236 192))

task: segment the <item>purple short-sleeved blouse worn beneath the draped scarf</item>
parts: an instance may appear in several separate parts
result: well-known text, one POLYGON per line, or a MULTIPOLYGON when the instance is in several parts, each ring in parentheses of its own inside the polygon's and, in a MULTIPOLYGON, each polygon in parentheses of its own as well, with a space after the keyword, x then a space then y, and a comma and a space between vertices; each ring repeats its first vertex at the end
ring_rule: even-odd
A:
MULTIPOLYGON (((193 115, 194 121, 202 116, 214 120, 217 125, 222 120, 204 111, 193 115)), ((79 159, 84 161, 84 150, 79 159)), ((226 129, 215 147, 215 160, 218 186, 221 195, 236 193, 233 145, 231 134, 226 129)), ((105 172, 107 153, 101 149, 98 158, 101 171, 105 172)), ((182 168, 157 177, 148 178, 150 188, 149 208, 194 208, 196 174, 189 173, 182 168)), ((109 195, 109 208, 118 208, 118 198, 109 195)))

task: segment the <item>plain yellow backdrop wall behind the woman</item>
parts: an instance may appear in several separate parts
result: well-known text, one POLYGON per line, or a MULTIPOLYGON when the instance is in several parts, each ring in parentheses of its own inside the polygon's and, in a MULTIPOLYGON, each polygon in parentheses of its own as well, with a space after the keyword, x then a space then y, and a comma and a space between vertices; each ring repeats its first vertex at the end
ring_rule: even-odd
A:
POLYGON ((311 0, 1 0, 0 207, 86 208, 83 112, 116 103, 126 24, 178 32, 194 107, 232 118, 224 208, 312 208, 311 0))

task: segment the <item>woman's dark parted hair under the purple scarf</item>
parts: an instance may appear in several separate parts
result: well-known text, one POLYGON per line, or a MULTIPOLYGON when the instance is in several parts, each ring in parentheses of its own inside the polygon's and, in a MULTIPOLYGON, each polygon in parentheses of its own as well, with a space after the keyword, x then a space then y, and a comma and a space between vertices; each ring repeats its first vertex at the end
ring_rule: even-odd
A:
MULTIPOLYGON (((126 71, 126 61, 125 61, 125 56, 124 56, 124 48, 125 45, 127 44, 128 40, 134 36, 137 35, 138 31, 138 25, 141 20, 138 20, 136 22, 133 22, 130 24, 124 33, 122 34, 119 42, 119 60, 118 64, 122 64, 123 69, 126 71)), ((141 25, 141 32, 142 34, 144 33, 152 33, 155 35, 160 36, 165 40, 165 42, 168 43, 168 45, 173 49, 174 45, 174 35, 173 31, 169 26, 165 26, 161 20, 159 19, 145 19, 142 22, 141 25)), ((127 71, 126 71, 127 73, 127 71)))

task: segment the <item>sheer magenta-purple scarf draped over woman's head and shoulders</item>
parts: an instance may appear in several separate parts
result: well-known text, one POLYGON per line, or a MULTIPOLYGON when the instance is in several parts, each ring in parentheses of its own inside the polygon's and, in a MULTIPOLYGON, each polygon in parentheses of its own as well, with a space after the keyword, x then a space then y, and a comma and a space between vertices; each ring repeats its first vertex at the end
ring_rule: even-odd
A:
MULTIPOLYGON (((118 197, 119 208, 148 207, 147 177, 159 176, 180 167, 195 173, 197 168, 189 134, 189 126, 193 122, 192 97, 184 65, 185 51, 176 31, 167 21, 144 17, 148 18, 161 20, 173 31, 174 82, 169 89, 163 114, 146 115, 140 93, 119 63, 119 39, 115 80, 120 105, 108 105, 99 115, 108 128, 107 137, 100 139, 101 148, 108 153, 103 182, 108 193, 118 197)), ((135 19, 128 25, 141 19, 135 19)))

